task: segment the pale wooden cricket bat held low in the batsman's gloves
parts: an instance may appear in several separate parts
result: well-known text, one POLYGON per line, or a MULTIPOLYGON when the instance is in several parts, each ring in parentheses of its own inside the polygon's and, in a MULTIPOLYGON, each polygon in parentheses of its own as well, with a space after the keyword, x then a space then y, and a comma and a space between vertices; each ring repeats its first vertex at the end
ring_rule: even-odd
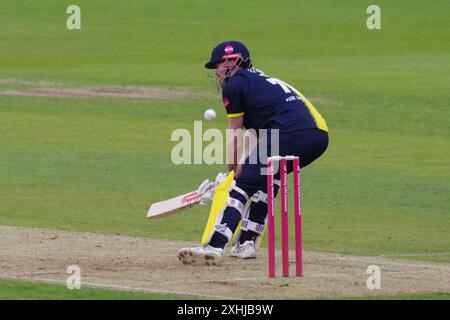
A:
POLYGON ((199 205, 201 199, 201 194, 192 191, 172 199, 154 203, 148 210, 147 218, 153 219, 170 216, 199 205))

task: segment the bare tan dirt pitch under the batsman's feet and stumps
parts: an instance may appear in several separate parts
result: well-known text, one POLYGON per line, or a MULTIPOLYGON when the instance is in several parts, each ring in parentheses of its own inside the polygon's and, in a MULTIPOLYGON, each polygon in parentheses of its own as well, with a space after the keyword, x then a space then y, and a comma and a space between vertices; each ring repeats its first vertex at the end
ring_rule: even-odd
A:
MULTIPOLYGON (((264 249, 253 260, 231 258, 227 253, 221 266, 182 265, 176 253, 191 245, 185 241, 0 226, 0 278, 63 284, 69 276, 67 267, 78 265, 82 286, 210 299, 450 292, 450 264, 306 251, 304 277, 269 279, 264 249), (370 265, 381 269, 379 290, 367 288, 370 265)), ((277 272, 280 270, 277 265, 277 272)))

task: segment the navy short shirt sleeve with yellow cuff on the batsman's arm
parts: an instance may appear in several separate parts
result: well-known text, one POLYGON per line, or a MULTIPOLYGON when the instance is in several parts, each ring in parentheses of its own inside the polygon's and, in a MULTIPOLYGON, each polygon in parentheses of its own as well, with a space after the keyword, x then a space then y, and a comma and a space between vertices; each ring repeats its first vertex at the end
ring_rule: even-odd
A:
POLYGON ((244 85, 245 79, 236 76, 230 79, 222 90, 223 105, 227 110, 228 118, 237 118, 245 114, 244 85))

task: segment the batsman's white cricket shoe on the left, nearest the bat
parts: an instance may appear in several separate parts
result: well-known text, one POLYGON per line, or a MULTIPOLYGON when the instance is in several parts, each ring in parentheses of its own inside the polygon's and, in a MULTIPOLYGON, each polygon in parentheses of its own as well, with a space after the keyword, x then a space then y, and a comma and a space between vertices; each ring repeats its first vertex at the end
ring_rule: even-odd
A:
POLYGON ((178 251, 177 257, 183 264, 215 266, 220 263, 223 256, 223 249, 214 248, 210 245, 206 247, 198 246, 183 248, 178 251))

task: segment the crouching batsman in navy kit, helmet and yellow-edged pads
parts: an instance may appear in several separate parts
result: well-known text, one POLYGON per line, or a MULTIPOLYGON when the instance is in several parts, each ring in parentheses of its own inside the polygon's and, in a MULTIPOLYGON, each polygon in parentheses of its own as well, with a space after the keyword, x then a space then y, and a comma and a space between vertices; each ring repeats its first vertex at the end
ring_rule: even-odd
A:
MULTIPOLYGON (((206 180, 199 187, 203 201, 212 201, 210 216, 201 245, 181 249, 178 258, 184 264, 214 265, 222 259, 223 249, 233 236, 231 256, 256 257, 267 221, 267 177, 261 174, 267 155, 299 156, 301 167, 305 167, 327 149, 328 127, 311 102, 294 87, 253 68, 250 53, 241 42, 217 45, 205 67, 215 69, 229 129, 253 129, 258 135, 258 146, 252 151, 258 153, 256 162, 249 160, 254 159, 253 153, 245 161, 238 161, 235 155, 240 142, 233 139, 227 145, 227 154, 233 155, 233 161, 228 159, 229 174, 219 174, 216 181, 206 180), (267 130, 266 137, 258 134, 260 129, 267 130), (275 133, 278 148, 271 138, 275 133), (258 147, 267 150, 257 151, 258 147)), ((287 170, 292 171, 292 164, 287 170)), ((279 189, 277 171, 275 196, 279 189)))

